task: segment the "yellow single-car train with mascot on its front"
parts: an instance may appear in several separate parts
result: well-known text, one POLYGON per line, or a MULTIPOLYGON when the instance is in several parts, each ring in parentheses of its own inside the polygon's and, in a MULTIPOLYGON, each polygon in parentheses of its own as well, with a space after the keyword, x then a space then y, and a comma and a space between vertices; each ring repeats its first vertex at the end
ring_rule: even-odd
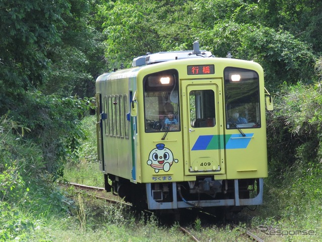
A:
POLYGON ((96 98, 107 192, 151 210, 262 203, 273 104, 259 64, 196 41, 101 75, 96 98))

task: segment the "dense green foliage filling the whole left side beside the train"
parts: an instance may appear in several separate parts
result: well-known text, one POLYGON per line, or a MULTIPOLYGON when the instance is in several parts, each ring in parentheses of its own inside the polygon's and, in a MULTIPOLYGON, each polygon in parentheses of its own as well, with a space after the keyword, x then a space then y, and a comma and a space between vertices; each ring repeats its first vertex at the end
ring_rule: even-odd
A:
POLYGON ((96 7, 0 2, 0 241, 31 241, 42 226, 35 214, 73 206, 52 181, 77 158, 80 122, 106 65, 96 7))

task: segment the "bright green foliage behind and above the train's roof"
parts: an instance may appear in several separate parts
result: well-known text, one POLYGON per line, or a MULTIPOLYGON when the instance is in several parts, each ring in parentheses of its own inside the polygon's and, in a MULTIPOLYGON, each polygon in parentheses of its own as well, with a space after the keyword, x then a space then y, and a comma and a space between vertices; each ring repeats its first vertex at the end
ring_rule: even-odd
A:
POLYGON ((110 68, 130 66, 133 56, 146 52, 191 49, 198 39, 216 56, 230 51, 236 58, 260 63, 272 91, 284 82, 316 81, 312 43, 261 22, 263 15, 269 18, 265 6, 263 1, 240 0, 109 2, 100 15, 110 68))

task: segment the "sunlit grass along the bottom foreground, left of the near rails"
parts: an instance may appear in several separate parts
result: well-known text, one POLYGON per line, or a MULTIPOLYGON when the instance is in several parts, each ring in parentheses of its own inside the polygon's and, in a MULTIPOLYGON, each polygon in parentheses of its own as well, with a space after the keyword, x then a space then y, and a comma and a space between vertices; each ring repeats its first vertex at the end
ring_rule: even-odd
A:
POLYGON ((154 216, 138 220, 124 205, 109 205, 101 200, 76 196, 74 216, 53 217, 28 241, 169 241, 184 242, 187 235, 173 228, 159 227, 154 216), (41 240, 47 239, 47 240, 41 240))

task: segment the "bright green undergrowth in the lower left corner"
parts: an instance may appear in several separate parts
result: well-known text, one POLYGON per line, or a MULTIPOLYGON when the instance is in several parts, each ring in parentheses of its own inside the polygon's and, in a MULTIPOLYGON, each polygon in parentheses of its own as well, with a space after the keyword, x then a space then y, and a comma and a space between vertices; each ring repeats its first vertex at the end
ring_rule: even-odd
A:
POLYGON ((27 131, 8 115, 0 118, 0 241, 30 241, 39 218, 74 208, 52 183, 41 146, 26 138, 27 131))

